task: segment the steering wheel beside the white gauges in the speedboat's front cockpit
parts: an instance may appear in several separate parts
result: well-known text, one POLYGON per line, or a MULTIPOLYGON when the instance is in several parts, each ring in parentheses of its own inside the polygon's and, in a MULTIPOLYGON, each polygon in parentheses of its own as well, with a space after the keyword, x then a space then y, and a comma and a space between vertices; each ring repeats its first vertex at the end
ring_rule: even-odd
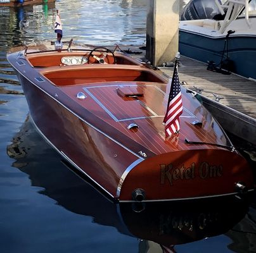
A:
POLYGON ((99 63, 99 64, 115 64, 117 59, 115 54, 106 47, 95 47, 88 56, 88 64, 99 63), (112 57, 109 57, 112 54, 112 57))

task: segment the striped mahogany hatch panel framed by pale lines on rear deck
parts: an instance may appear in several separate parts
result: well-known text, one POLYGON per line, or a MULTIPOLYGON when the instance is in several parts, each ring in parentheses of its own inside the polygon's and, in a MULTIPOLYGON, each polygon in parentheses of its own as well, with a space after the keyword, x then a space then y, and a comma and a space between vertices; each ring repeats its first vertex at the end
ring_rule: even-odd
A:
MULTIPOLYGON (((165 108, 155 101, 164 101, 166 95, 155 85, 100 85, 83 87, 83 90, 116 122, 163 118, 165 115, 165 108), (119 87, 133 87, 133 89, 139 87, 139 94, 144 95, 122 97, 117 94, 119 87)), ((181 117, 196 118, 184 107, 181 117)))

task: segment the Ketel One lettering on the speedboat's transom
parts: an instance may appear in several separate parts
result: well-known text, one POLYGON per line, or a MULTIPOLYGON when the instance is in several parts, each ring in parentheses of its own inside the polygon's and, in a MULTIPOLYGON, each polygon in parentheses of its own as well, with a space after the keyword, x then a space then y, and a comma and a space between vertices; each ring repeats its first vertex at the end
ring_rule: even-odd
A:
MULTIPOLYGON (((189 180, 195 178, 196 175, 196 164, 192 163, 191 166, 186 168, 184 164, 180 168, 174 168, 172 164, 160 164, 160 183, 164 184, 165 179, 167 179, 170 185, 173 185, 174 181, 177 180, 189 180)), ((205 178, 215 178, 217 176, 222 176, 223 168, 221 165, 211 166, 207 162, 203 162, 198 166, 198 176, 202 179, 205 178)))

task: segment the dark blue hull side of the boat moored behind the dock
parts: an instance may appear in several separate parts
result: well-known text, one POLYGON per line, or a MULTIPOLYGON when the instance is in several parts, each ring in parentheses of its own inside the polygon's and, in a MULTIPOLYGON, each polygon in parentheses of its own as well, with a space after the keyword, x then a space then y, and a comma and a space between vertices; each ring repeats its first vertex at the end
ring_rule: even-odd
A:
MULTIPOLYGON (((215 33, 212 31, 212 33, 215 33)), ((224 68, 246 78, 256 79, 256 35, 215 36, 191 31, 189 25, 179 29, 179 51, 182 55, 224 68), (228 48, 227 48, 228 46, 228 48)))

